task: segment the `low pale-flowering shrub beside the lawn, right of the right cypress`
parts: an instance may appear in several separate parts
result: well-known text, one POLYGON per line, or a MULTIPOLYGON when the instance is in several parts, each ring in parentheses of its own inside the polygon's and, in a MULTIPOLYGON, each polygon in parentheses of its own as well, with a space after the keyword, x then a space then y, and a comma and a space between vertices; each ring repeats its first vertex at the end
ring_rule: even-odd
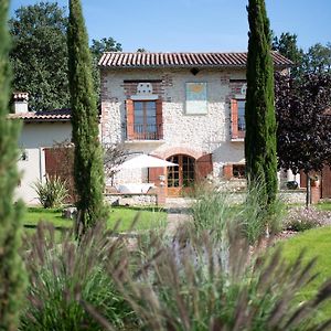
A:
POLYGON ((314 207, 293 207, 289 210, 284 227, 298 232, 310 229, 323 225, 327 215, 328 213, 314 207))

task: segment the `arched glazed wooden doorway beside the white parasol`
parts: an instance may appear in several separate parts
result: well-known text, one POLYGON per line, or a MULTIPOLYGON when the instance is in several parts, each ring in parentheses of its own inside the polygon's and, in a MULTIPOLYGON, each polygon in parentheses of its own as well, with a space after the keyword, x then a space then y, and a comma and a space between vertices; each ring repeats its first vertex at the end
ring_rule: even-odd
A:
POLYGON ((175 154, 167 161, 179 164, 167 168, 168 196, 188 194, 195 181, 195 159, 186 154, 175 154))

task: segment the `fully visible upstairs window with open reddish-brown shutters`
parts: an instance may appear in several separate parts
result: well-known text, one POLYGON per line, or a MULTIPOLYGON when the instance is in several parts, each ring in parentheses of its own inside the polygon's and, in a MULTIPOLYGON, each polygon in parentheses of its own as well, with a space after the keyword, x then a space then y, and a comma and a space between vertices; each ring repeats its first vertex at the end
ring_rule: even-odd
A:
POLYGON ((126 139, 162 139, 162 100, 127 100, 126 139))

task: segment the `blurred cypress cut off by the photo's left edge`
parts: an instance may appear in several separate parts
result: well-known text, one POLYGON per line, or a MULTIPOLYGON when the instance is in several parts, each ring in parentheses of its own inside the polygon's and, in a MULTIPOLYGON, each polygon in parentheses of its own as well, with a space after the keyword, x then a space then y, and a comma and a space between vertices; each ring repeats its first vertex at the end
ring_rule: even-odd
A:
POLYGON ((0 0, 0 330, 18 330, 25 274, 18 253, 23 205, 13 203, 19 182, 17 170, 20 124, 9 120, 11 75, 7 31, 9 1, 0 0))

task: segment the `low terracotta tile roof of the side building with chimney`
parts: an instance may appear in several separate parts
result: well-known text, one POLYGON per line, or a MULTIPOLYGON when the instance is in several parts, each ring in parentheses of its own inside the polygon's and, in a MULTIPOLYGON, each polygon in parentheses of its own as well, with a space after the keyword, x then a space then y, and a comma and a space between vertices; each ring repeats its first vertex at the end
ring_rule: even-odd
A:
POLYGON ((71 120, 71 109, 54 109, 50 111, 29 111, 21 114, 10 114, 9 118, 23 119, 31 121, 68 121, 71 120))

